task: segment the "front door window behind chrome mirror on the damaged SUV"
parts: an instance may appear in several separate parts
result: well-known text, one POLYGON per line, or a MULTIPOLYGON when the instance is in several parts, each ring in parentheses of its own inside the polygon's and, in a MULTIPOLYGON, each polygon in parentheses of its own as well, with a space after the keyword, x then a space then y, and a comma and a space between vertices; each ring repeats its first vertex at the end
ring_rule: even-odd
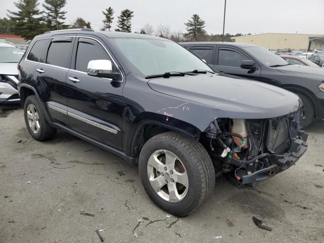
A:
POLYGON ((101 59, 110 60, 105 50, 95 41, 80 38, 77 45, 75 70, 87 72, 89 61, 101 59))

